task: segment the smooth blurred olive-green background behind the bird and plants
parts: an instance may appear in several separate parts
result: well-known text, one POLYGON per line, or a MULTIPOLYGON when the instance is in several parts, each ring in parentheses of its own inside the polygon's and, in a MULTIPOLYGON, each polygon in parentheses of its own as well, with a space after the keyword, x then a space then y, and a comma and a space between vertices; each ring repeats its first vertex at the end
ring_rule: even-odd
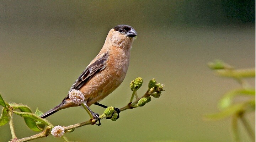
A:
MULTIPOLYGON (((144 107, 121 113, 118 121, 84 126, 67 133, 82 142, 181 141, 230 142, 230 119, 204 121, 217 112, 217 102, 240 85, 216 77, 207 62, 221 59, 238 68, 255 67, 255 1, 0 1, 0 93, 7 102, 46 112, 59 104, 76 78, 98 54, 107 32, 128 24, 138 36, 121 86, 102 104, 123 107, 129 83, 155 78, 165 92, 144 107)), ((249 82, 255 86, 255 79, 249 82)), ((91 106, 97 113, 103 108, 91 106)), ((255 114, 247 115, 255 128, 255 114)), ((53 125, 89 119, 80 108, 47 118, 53 125)), ((14 118, 18 138, 36 134, 14 118)), ((242 142, 249 141, 239 125, 242 142)), ((0 127, 0 142, 11 139, 0 127)), ((52 136, 34 142, 61 142, 52 136)))

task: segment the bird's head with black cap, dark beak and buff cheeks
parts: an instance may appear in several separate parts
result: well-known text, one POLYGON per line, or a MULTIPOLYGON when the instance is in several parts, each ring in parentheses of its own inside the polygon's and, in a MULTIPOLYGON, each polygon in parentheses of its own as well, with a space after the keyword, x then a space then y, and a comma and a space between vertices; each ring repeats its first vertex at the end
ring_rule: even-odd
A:
POLYGON ((137 32, 133 27, 122 24, 112 28, 108 32, 107 39, 109 39, 114 46, 130 48, 136 36, 137 32))

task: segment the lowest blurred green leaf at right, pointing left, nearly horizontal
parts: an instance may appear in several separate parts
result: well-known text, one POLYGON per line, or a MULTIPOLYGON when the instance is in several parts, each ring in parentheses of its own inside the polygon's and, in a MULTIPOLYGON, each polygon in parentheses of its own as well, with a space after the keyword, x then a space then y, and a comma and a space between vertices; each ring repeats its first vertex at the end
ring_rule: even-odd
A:
POLYGON ((235 104, 231 105, 230 107, 224 109, 223 111, 220 111, 219 113, 215 114, 207 114, 204 115, 204 118, 206 120, 220 120, 227 118, 235 113, 238 113, 240 111, 243 111, 245 107, 245 103, 235 104))

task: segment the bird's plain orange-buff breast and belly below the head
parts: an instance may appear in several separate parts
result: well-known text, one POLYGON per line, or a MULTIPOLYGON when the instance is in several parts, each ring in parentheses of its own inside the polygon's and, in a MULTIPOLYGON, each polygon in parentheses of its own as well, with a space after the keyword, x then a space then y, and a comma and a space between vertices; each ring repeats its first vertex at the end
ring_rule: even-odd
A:
POLYGON ((129 50, 110 52, 105 69, 97 73, 81 88, 88 106, 105 98, 123 82, 128 70, 129 58, 129 50))

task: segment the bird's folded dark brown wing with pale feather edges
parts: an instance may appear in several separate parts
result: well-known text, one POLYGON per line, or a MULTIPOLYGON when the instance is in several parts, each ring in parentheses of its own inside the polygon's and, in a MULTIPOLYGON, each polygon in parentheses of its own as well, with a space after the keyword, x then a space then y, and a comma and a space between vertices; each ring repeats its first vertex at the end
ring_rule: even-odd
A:
MULTIPOLYGON (((106 67, 107 58, 108 58, 108 53, 105 53, 101 58, 98 58, 95 62, 93 62, 88 67, 86 67, 86 69, 82 72, 82 74, 78 77, 78 79, 75 81, 73 86, 70 88, 70 91, 72 89, 79 90, 86 82, 88 82, 98 72, 104 70, 106 67)), ((67 98, 68 96, 65 99, 67 98)))

